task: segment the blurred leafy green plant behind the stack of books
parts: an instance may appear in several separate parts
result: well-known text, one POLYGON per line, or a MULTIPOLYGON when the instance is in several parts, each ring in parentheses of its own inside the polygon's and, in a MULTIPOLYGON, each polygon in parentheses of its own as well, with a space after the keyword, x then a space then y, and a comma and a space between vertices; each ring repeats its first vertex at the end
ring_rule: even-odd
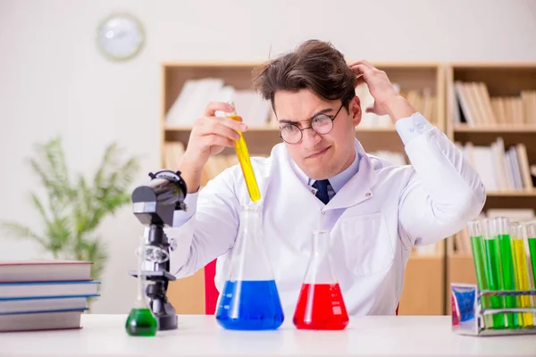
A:
POLYGON ((38 242, 54 259, 93 262, 91 275, 98 280, 108 253, 97 228, 105 217, 130 202, 137 159, 123 159, 121 149, 113 143, 106 146, 92 178, 80 174, 71 178, 61 138, 38 144, 36 151, 37 156, 29 160, 29 166, 40 179, 46 197, 31 192, 29 198, 41 218, 42 231, 17 221, 4 222, 4 231, 12 237, 38 242))

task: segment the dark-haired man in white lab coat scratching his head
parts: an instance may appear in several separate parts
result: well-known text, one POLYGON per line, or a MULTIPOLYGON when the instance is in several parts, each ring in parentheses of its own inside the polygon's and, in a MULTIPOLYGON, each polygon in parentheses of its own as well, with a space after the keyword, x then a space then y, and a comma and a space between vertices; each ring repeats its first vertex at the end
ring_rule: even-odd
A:
MULTIPOLYGON (((331 231, 334 270, 351 315, 394 314, 406 262, 415 245, 433 244, 464 228, 485 202, 475 170, 456 146, 398 95, 383 71, 366 61, 348 66, 329 43, 307 41, 267 62, 255 87, 272 102, 283 143, 252 159, 263 197, 265 253, 285 315, 296 307, 314 229, 331 231), (367 111, 388 114, 412 165, 394 166, 364 152, 355 137, 362 116, 355 87, 374 98, 367 111)), ((211 154, 232 147, 245 123, 218 118, 228 104, 208 104, 178 168, 188 186, 188 212, 176 212, 168 237, 177 241, 171 272, 192 275, 218 258, 222 292, 247 187, 239 166, 199 190, 211 154)))

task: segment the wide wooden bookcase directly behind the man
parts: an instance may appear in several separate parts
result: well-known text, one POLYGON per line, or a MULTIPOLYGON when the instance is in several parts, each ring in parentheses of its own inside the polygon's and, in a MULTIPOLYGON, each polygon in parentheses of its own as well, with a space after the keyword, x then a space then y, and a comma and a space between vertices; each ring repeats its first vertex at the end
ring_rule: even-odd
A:
MULTIPOLYGON (((252 71, 260 62, 163 62, 162 63, 162 101, 161 101, 161 164, 163 167, 173 167, 180 154, 188 145, 188 137, 192 127, 191 121, 173 117, 177 112, 176 104, 182 91, 192 81, 200 79, 221 79, 224 86, 235 90, 250 89, 252 71), (175 108, 173 108, 175 106, 175 108)), ((392 83, 396 84, 400 93, 421 112, 427 113, 431 120, 441 130, 445 130, 445 72, 440 63, 421 62, 377 62, 374 65, 386 71, 392 83)), ((357 88, 362 90, 363 88, 357 88)), ((195 93, 194 89, 188 89, 195 93)), ((201 91, 202 92, 202 91, 201 91)), ((366 102, 366 93, 358 94, 362 102, 366 102)), ((197 95, 199 96, 199 95, 197 95)), ((370 99, 370 98, 369 98, 370 99)), ((209 97, 201 100, 197 106, 204 108, 210 101, 209 97)), ((364 107, 366 103, 363 103, 364 107)), ((237 108, 238 104, 237 104, 237 108)), ((184 109, 183 109, 184 111, 184 109)), ((186 110, 188 112, 188 110, 186 110)), ((263 109, 264 111, 264 109, 263 109)), ((274 122, 273 113, 266 112, 263 118, 248 118, 244 120, 250 126, 245 134, 247 145, 252 155, 269 155, 272 146, 280 143, 279 130, 274 122), (255 124, 251 120, 256 120, 255 124)), ((404 145, 398 137, 394 125, 378 118, 364 118, 356 128, 356 137, 364 145, 367 152, 392 152, 398 154, 400 160, 407 160, 404 145), (365 120, 366 119, 366 120, 365 120)), ((205 170, 202 185, 233 162, 233 153, 229 150, 213 162, 205 170), (226 154, 229 154, 225 158, 226 154), (218 161, 218 162, 216 162, 218 161)), ((212 160, 212 159, 211 159, 212 160)), ((445 253, 444 242, 437 246, 412 253, 406 268, 405 287, 400 301, 400 314, 433 315, 444 313, 445 286, 445 253), (431 288, 433 286, 433 288, 431 288), (433 296, 432 296, 433 295, 433 296)), ((189 278, 181 278, 170 284, 169 297, 178 313, 205 313, 205 274, 199 270, 189 278)))

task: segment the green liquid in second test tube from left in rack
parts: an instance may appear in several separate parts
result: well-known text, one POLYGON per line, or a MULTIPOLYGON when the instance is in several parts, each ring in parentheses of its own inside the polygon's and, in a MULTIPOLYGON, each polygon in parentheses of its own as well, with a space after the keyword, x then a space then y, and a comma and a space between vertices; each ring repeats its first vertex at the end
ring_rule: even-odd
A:
MULTIPOLYGON (((496 238, 484 239, 486 246, 486 278, 491 291, 500 290, 500 265, 498 260, 498 240, 496 238)), ((504 306, 502 296, 490 296, 491 307, 500 309, 504 306)), ((505 319, 502 314, 493 315, 493 328, 505 328, 505 319)))

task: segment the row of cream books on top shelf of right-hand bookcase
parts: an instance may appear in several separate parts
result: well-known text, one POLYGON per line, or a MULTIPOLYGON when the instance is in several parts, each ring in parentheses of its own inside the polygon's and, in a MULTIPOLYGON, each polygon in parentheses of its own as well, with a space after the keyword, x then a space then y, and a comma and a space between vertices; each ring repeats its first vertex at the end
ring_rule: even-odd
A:
POLYGON ((518 95, 490 95, 483 82, 454 82, 455 124, 469 127, 536 125, 536 90, 518 95))

